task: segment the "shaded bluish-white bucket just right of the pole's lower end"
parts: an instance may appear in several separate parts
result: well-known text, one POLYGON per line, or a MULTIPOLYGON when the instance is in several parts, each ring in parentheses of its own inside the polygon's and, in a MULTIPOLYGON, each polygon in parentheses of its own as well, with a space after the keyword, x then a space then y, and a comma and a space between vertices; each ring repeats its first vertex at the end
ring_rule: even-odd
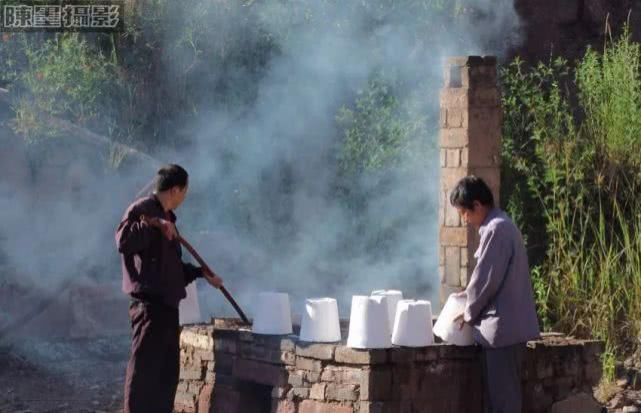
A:
POLYGON ((256 334, 292 333, 292 314, 287 293, 258 293, 252 331, 256 334))

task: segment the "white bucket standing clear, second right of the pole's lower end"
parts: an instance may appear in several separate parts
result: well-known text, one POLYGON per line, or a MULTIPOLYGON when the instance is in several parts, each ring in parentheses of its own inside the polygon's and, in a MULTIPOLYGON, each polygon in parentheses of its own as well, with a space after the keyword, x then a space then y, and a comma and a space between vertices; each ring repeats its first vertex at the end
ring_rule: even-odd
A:
POLYGON ((338 304, 333 298, 308 298, 300 326, 300 341, 331 343, 341 340, 338 304))

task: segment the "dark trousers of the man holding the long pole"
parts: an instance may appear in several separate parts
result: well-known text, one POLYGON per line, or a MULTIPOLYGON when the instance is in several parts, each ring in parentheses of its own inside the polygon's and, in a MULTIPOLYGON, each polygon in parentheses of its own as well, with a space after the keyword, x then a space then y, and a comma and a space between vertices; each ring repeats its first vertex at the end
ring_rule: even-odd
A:
POLYGON ((134 301, 129 318, 124 413, 171 413, 180 372, 178 309, 134 301))

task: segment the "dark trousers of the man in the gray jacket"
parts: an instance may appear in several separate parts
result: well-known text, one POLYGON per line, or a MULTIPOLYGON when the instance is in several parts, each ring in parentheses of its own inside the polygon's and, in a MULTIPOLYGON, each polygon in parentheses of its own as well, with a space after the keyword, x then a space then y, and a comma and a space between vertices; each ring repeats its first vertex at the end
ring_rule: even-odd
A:
POLYGON ((481 364, 487 413, 521 413, 524 352, 524 343, 483 349, 481 364))

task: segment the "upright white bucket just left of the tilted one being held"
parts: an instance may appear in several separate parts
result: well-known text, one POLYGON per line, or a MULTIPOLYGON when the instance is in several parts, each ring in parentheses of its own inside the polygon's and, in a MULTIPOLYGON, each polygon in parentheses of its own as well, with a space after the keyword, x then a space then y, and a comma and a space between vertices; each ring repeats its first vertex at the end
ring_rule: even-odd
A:
POLYGON ((396 306, 392 344, 424 347, 434 344, 432 304, 426 300, 401 300, 396 306))

